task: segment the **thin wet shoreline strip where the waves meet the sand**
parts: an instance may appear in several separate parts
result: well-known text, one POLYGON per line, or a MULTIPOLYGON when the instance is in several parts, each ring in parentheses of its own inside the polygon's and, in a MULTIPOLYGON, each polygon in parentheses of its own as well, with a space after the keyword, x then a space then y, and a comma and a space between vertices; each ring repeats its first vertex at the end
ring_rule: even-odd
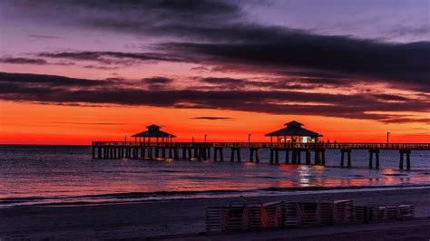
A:
MULTIPOLYGON (((98 206, 98 205, 117 205, 128 203, 147 203, 147 202, 162 202, 162 201, 175 201, 175 200, 205 200, 211 198, 258 198, 258 197, 283 197, 283 196, 299 196, 299 195, 318 195, 325 193, 343 193, 343 192, 358 192, 358 191, 378 191, 378 190, 392 190, 396 188, 401 189, 415 189, 415 188, 430 188, 426 184, 411 184, 411 185, 392 185, 392 186, 350 186, 350 187, 303 187, 303 188, 259 188, 251 190, 208 190, 208 191, 171 191, 171 192, 132 192, 132 193, 112 193, 101 195, 87 195, 87 196, 67 196, 67 197, 27 197, 27 198, 0 198, 0 208, 14 208, 14 207, 79 207, 79 206, 98 206), (270 193, 271 192, 271 193, 270 193), (212 197, 192 197, 204 196, 213 194, 212 197), (228 197, 222 197, 222 194, 237 194, 228 197), (248 195, 247 195, 248 194, 248 195), (151 198, 151 195, 160 195, 161 197, 174 197, 181 195, 189 195, 184 198, 151 198), (26 204, 25 200, 61 200, 73 198, 112 198, 105 201, 85 201, 76 200, 69 202, 42 202, 34 204, 26 204), (121 199, 115 199, 123 198, 121 199), (127 200, 126 198, 142 198, 149 197, 149 199, 127 200), (111 201, 112 200, 112 201, 111 201), (9 206, 8 206, 9 205, 9 206)), ((31 201, 28 201, 29 203, 31 201)))

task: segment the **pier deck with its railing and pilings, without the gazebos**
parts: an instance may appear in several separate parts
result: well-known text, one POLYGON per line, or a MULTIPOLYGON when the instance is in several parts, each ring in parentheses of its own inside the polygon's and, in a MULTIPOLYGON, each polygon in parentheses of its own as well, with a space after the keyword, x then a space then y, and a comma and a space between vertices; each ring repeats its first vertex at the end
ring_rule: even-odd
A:
POLYGON ((240 161, 240 149, 249 149, 249 161, 259 163, 259 149, 270 150, 270 163, 279 163, 279 151, 285 151, 285 163, 301 164, 301 153, 305 153, 305 163, 326 165, 326 149, 339 149, 340 166, 352 166, 351 150, 368 149, 369 168, 379 168, 379 150, 396 149, 399 151, 399 169, 411 168, 412 150, 430 150, 430 143, 279 143, 279 142, 140 142, 140 141, 93 141, 93 159, 210 159, 223 161, 223 149, 230 149, 230 161, 240 161), (166 153, 167 152, 167 153, 166 153), (290 154, 291 152, 291 154, 290 154), (167 155, 168 154, 168 155, 167 155))

